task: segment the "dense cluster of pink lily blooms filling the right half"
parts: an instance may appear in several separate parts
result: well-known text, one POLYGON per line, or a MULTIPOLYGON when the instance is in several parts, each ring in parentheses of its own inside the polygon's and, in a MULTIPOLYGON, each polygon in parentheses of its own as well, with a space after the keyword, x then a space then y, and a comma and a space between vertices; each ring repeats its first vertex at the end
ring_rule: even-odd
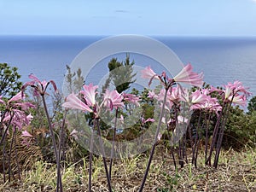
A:
POLYGON ((157 79, 165 85, 165 89, 160 90, 160 93, 158 94, 154 91, 149 91, 148 93, 148 97, 158 101, 163 101, 166 85, 168 85, 166 83, 171 83, 166 96, 166 109, 172 108, 172 106, 178 102, 188 102, 190 110, 203 109, 218 113, 218 111, 222 110, 222 106, 218 103, 217 98, 211 96, 213 91, 217 91, 219 94, 224 95, 224 102, 232 102, 241 105, 242 107, 245 107, 247 104, 247 96, 249 95, 249 92, 247 92, 247 88, 244 88, 241 82, 235 81, 233 84, 228 83, 227 85, 224 85, 224 90, 213 87, 211 89, 202 89, 203 74, 192 72, 192 66, 190 64, 183 67, 183 70, 173 79, 166 78, 166 73, 162 73, 161 75, 154 73, 150 67, 146 67, 142 73, 143 78, 149 79, 149 84, 151 84, 153 79, 157 79), (189 90, 183 89, 179 83, 190 84, 199 89, 190 93, 189 90), (177 86, 172 87, 174 84, 177 84, 177 86))

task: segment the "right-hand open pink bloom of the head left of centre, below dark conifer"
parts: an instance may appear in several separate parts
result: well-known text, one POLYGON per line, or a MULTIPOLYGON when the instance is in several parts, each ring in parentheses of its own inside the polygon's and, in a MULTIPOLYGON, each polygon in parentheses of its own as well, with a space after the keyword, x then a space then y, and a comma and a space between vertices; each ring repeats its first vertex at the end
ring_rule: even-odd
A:
POLYGON ((118 93, 116 90, 106 90, 104 94, 104 104, 107 108, 110 108, 110 110, 113 110, 113 108, 119 108, 125 106, 122 102, 123 96, 118 93))

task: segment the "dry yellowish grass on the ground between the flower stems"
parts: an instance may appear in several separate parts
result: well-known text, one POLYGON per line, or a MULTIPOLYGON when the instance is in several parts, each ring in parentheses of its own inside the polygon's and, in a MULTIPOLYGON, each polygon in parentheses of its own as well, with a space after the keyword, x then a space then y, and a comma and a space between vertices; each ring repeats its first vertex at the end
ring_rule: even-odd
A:
MULTIPOLYGON (((217 170, 204 166, 203 158, 199 158, 197 169, 187 164, 183 169, 175 170, 170 154, 160 146, 157 151, 144 191, 256 191, 255 148, 239 153, 232 149, 222 152, 217 170)), ((137 191, 147 162, 146 155, 114 160, 113 191, 137 191)), ((94 191, 108 191, 101 158, 95 158, 93 166, 94 191)), ((64 167, 62 171, 64 191, 87 191, 88 162, 85 159, 64 167)), ((55 166, 44 162, 38 162, 30 172, 23 172, 20 182, 1 183, 2 177, 0 191, 55 191, 55 166)))

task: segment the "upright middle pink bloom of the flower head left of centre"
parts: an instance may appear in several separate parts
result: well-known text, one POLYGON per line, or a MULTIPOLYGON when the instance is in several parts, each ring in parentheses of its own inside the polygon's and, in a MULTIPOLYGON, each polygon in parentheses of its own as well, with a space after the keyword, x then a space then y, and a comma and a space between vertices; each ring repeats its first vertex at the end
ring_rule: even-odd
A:
POLYGON ((84 99, 88 106, 94 106, 96 104, 96 89, 98 85, 93 86, 92 83, 89 85, 84 84, 84 90, 81 90, 80 93, 84 95, 84 99))

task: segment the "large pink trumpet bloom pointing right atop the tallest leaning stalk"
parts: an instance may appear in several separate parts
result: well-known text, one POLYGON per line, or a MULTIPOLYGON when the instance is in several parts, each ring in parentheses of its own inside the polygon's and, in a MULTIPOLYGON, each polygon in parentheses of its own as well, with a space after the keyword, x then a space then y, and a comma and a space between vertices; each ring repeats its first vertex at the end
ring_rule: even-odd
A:
POLYGON ((180 73, 173 78, 177 83, 191 84, 193 86, 201 87, 203 84, 203 73, 192 72, 191 64, 183 67, 180 73))

